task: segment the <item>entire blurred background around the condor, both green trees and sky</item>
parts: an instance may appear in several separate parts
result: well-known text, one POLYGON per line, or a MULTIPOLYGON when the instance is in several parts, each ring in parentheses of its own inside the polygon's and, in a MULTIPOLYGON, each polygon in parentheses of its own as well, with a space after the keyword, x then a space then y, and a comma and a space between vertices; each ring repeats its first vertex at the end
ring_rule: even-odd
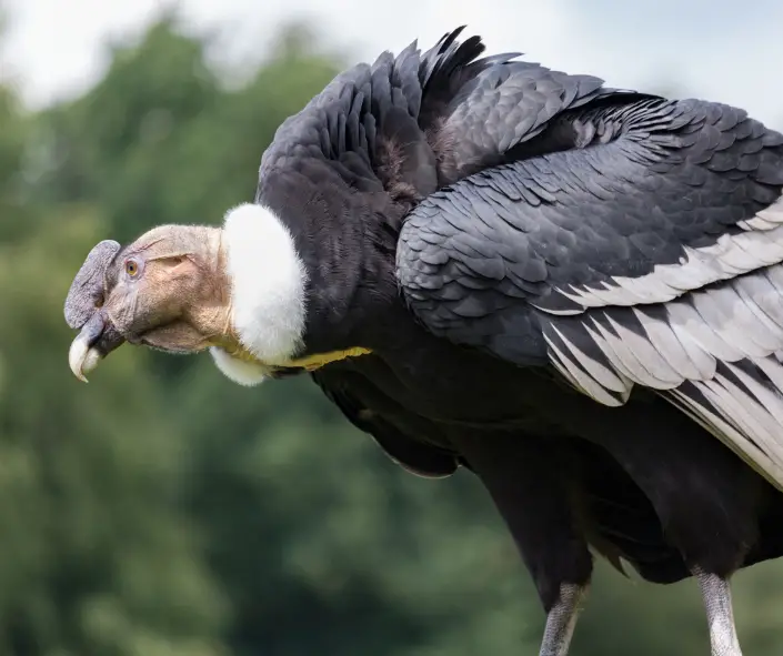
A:
MULTIPOLYGON (((62 302, 99 240, 252 199, 278 124, 341 68, 461 23, 781 129, 783 3, 752 7, 0 0, 0 656, 536 654, 543 613, 470 474, 410 475, 307 379, 247 390, 207 355, 122 349, 83 385, 62 302)), ((783 563, 734 589, 745 654, 783 653, 783 563)), ((573 656, 707 653, 693 582, 599 566, 573 656)))

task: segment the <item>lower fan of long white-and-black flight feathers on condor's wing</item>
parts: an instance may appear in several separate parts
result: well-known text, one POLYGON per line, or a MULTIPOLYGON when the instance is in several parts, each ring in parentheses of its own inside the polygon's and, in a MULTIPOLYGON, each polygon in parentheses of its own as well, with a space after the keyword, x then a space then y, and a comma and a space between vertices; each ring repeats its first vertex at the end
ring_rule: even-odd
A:
POLYGON ((657 390, 783 490, 783 265, 543 323, 553 365, 582 393, 618 406, 634 384, 657 390))

